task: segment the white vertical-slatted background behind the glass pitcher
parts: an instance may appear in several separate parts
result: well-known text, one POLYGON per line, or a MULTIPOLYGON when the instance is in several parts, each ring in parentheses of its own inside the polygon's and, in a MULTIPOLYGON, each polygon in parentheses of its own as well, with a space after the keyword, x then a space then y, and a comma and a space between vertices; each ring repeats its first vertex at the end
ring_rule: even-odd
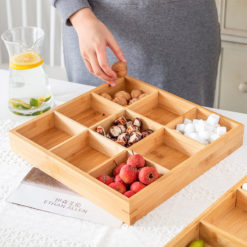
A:
MULTIPOLYGON (((66 79, 62 53, 62 22, 50 0, 0 0, 0 34, 11 27, 39 26, 45 31, 42 56, 49 76, 66 79)), ((0 68, 7 68, 8 54, 0 41, 0 68)))

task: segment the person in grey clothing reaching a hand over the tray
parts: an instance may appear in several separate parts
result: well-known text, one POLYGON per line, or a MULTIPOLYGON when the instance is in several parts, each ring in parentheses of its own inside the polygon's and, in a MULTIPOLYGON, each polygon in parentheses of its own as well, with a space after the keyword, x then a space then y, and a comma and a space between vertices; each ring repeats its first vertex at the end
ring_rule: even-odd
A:
POLYGON ((70 81, 114 85, 110 65, 212 106, 221 50, 214 0, 52 0, 64 19, 70 81), (91 72, 91 73, 89 73, 91 72), (97 76, 98 78, 96 78, 97 76))

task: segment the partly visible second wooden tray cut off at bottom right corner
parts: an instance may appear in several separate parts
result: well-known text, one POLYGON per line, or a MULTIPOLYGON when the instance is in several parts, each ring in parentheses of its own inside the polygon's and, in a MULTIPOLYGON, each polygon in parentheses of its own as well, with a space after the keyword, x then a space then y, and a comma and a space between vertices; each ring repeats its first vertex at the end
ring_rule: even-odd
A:
POLYGON ((197 239, 205 247, 247 247, 247 191, 241 187, 247 176, 165 247, 187 247, 197 239))

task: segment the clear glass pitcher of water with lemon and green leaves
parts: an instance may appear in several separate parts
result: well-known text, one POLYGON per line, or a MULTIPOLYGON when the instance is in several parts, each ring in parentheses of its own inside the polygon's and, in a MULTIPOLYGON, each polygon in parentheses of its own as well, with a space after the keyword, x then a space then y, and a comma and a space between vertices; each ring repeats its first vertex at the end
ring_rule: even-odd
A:
POLYGON ((24 116, 48 111, 54 101, 40 56, 44 31, 17 27, 1 37, 9 53, 9 109, 24 116))

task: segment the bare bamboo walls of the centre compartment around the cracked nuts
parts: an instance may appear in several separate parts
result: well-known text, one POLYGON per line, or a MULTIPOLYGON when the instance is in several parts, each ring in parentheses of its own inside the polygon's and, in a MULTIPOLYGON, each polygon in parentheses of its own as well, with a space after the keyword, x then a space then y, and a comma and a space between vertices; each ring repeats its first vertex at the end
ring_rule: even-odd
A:
MULTIPOLYGON (((156 123, 156 122, 154 122, 154 121, 152 121, 152 120, 150 120, 150 119, 148 119, 148 118, 146 118, 146 117, 144 117, 144 116, 142 116, 136 112, 133 112, 131 110, 126 109, 126 110, 122 110, 116 114, 113 114, 110 117, 108 117, 107 119, 104 119, 103 121, 95 124, 94 126, 91 127, 91 129, 96 131, 97 126, 101 126, 105 129, 105 131, 107 133, 109 131, 110 127, 112 126, 114 120, 120 116, 124 116, 126 119, 131 119, 131 120, 133 120, 136 117, 140 118, 142 120, 143 130, 152 129, 153 131, 156 131, 157 129, 162 128, 162 125, 160 125, 160 124, 158 124, 158 123, 156 123)), ((143 139, 145 139, 145 138, 143 138, 143 139)), ((142 140, 140 140, 138 143, 141 143, 142 140)), ((120 145, 120 144, 117 144, 117 145, 120 145)), ((136 145, 136 144, 134 144, 134 145, 136 145)), ((134 147, 134 145, 130 146, 129 148, 132 149, 134 147)))

